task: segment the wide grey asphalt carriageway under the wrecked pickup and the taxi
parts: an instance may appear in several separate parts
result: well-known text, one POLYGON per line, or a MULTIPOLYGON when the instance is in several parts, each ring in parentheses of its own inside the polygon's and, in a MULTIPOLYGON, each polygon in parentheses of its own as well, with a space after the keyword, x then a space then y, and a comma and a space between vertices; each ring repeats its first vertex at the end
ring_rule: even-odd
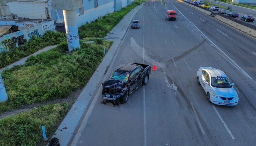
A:
POLYGON ((128 30, 106 76, 124 63, 156 61, 158 70, 125 104, 104 102, 99 87, 73 145, 255 145, 256 40, 183 3, 153 3, 135 16, 141 28, 128 30), (166 10, 175 10, 177 20, 165 19, 166 10), (230 77, 237 106, 207 102, 196 83, 202 66, 230 77))

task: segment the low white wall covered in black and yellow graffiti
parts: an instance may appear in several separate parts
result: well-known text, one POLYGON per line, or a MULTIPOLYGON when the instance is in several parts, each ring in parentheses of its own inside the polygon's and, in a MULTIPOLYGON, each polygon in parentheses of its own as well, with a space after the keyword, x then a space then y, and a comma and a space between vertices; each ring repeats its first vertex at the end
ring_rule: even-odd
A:
POLYGON ((54 21, 44 22, 42 25, 4 35, 0 37, 0 52, 8 51, 15 46, 19 47, 32 38, 32 36, 40 37, 48 30, 56 32, 54 21), (45 29, 43 29, 44 25, 46 25, 45 29))

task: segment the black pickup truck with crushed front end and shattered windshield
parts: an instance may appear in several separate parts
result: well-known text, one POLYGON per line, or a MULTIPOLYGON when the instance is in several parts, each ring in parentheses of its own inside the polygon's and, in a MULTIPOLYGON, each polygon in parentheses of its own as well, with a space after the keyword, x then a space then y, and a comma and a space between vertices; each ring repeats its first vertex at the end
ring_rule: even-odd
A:
POLYGON ((126 103, 129 94, 141 84, 147 84, 150 73, 151 65, 127 63, 119 67, 109 79, 101 84, 102 98, 113 101, 114 105, 116 101, 126 103))

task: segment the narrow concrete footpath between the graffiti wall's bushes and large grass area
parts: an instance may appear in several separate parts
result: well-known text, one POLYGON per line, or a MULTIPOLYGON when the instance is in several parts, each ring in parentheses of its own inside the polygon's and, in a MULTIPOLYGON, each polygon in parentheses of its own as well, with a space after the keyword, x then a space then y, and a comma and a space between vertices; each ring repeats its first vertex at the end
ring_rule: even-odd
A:
MULTIPOLYGON (((48 51, 48 50, 53 49, 53 48, 55 48, 55 47, 57 47, 57 45, 50 45, 50 46, 45 47, 45 48, 43 48, 43 49, 41 49, 41 50, 38 50, 37 52, 35 52, 35 53, 33 53, 33 54, 29 55, 29 56, 35 56, 35 55, 37 55, 37 54, 39 54, 39 53, 41 53, 41 52, 48 51)), ((3 70, 5 70, 6 68, 12 68, 13 66, 17 66, 17 65, 24 65, 29 56, 27 56, 27 57, 25 57, 25 58, 22 58, 22 59, 20 59, 19 61, 16 61, 16 62, 12 63, 11 65, 5 67, 5 68, 0 69, 0 73, 1 73, 3 70)))

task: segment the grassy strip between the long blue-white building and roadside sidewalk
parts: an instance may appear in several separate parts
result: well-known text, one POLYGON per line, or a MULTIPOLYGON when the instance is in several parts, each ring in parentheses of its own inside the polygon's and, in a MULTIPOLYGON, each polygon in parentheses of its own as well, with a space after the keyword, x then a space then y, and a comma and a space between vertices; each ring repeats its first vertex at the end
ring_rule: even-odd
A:
POLYGON ((118 12, 113 12, 110 15, 103 16, 101 19, 97 19, 91 23, 84 24, 78 28, 79 37, 105 37, 134 7, 140 5, 146 0, 134 0, 134 2, 122 8, 118 12))

